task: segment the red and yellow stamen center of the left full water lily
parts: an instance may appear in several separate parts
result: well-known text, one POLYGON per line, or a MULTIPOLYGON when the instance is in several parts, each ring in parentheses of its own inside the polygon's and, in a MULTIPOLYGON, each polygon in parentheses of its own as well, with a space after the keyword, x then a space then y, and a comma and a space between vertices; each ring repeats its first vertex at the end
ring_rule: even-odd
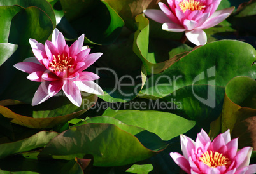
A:
POLYGON ((73 67, 74 65, 70 65, 70 62, 72 60, 72 57, 64 57, 64 55, 58 55, 56 58, 55 55, 53 55, 52 62, 50 62, 50 70, 52 72, 66 72, 69 68, 73 67))

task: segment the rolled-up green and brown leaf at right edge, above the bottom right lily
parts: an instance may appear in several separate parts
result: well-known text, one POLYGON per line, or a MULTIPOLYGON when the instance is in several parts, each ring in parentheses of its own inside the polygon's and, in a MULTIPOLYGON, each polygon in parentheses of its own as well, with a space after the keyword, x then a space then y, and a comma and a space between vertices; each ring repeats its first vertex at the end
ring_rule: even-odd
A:
POLYGON ((221 131, 231 130, 231 137, 239 137, 239 148, 256 148, 256 81, 249 77, 234 77, 225 88, 221 131))

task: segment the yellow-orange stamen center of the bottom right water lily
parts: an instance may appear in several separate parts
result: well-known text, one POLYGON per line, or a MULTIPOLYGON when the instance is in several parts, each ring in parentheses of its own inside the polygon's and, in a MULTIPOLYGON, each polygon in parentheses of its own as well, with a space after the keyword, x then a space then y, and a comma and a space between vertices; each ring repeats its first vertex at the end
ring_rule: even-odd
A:
POLYGON ((223 154, 220 154, 219 152, 205 152, 204 154, 201 154, 201 157, 199 157, 200 161, 203 161, 204 164, 208 165, 210 168, 216 168, 218 166, 229 166, 231 164, 231 161, 229 158, 224 156, 223 154))

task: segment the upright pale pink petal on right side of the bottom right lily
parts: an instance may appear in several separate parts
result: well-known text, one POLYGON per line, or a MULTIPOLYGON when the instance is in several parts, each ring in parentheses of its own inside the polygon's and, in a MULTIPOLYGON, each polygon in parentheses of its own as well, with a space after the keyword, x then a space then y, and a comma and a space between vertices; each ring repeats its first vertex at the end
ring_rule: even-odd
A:
POLYGON ((236 154, 234 160, 236 161, 236 168, 239 170, 244 166, 248 166, 250 163, 250 157, 252 154, 252 147, 244 147, 236 154))

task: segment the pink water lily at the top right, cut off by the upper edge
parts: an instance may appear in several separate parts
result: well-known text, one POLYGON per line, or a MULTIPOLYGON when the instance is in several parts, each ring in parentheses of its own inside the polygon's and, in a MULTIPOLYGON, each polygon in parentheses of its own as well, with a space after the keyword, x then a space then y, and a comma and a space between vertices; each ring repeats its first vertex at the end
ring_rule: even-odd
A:
POLYGON ((207 42, 208 29, 231 15, 234 7, 216 11, 221 0, 167 0, 169 7, 159 2, 161 10, 148 9, 143 12, 152 20, 163 23, 162 29, 184 32, 189 41, 196 45, 207 42))

